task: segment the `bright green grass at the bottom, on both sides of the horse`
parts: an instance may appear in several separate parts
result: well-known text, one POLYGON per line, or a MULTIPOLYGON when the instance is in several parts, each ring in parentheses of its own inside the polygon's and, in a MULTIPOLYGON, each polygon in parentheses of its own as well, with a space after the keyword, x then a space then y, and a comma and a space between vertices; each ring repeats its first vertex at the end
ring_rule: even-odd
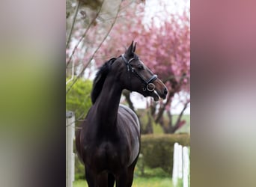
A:
MULTIPOLYGON (((76 180, 73 187, 87 187, 85 180, 76 180)), ((132 187, 172 187, 171 178, 162 177, 136 177, 133 179, 132 187)))

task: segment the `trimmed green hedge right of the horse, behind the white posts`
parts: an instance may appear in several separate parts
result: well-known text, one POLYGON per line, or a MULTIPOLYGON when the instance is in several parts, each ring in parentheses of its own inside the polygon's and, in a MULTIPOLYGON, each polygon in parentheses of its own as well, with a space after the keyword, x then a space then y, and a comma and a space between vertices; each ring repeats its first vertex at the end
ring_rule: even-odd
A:
POLYGON ((183 146, 189 146, 190 135, 141 135, 143 167, 162 168, 162 170, 168 172, 168 174, 172 174, 175 142, 183 146))

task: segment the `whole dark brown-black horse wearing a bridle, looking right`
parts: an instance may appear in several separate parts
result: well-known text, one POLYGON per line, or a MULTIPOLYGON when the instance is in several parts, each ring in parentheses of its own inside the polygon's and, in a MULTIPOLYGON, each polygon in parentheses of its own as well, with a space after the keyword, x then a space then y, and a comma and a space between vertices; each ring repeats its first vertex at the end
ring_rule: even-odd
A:
MULTIPOLYGON (((136 46, 136 43, 135 43, 136 46)), ((132 186, 140 151, 138 117, 119 105, 124 89, 165 99, 167 89, 135 54, 132 44, 118 58, 107 61, 94 79, 93 105, 76 133, 76 150, 85 164, 89 187, 132 186)))

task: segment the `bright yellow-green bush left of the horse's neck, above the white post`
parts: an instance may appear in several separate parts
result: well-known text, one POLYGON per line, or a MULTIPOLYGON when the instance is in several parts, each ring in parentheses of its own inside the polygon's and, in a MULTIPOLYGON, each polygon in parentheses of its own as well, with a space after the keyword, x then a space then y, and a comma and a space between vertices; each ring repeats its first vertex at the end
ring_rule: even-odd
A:
MULTIPOLYGON (((66 88, 69 88, 70 84, 71 82, 66 85, 66 88)), ((66 110, 74 111, 76 120, 84 119, 91 107, 91 89, 92 82, 90 80, 78 79, 66 94, 66 110)))

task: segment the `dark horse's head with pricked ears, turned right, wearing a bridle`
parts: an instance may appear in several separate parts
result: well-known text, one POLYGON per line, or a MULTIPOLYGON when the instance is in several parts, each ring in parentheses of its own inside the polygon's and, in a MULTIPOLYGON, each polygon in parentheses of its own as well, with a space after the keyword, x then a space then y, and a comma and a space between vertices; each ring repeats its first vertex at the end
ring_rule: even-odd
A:
MULTIPOLYGON (((121 71, 119 81, 129 91, 136 91, 143 96, 152 96, 155 101, 159 96, 165 99, 168 91, 160 79, 135 54, 136 43, 133 41, 126 52, 117 59, 121 71)), ((115 63, 116 64, 116 63, 115 63)))

